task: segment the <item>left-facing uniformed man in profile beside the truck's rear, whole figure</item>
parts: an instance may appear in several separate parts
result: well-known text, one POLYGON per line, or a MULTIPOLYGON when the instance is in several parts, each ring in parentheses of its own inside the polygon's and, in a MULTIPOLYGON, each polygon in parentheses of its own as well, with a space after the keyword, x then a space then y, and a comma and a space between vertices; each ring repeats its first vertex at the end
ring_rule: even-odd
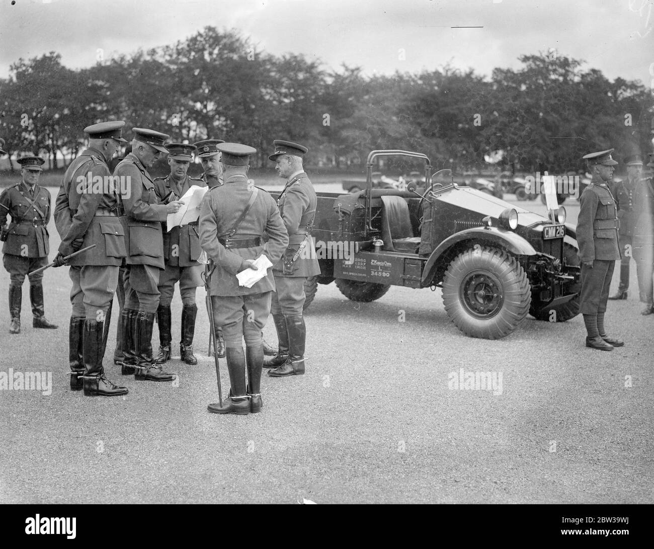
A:
POLYGON ((286 178, 286 186, 277 199, 277 206, 288 232, 288 248, 273 267, 277 290, 273 294, 271 310, 279 350, 273 358, 266 359, 264 366, 274 368, 268 372, 269 376, 282 377, 304 373, 307 337, 302 316, 304 282, 309 276, 319 275, 320 267, 311 239, 317 197, 302 167, 308 149, 280 139, 273 143, 275 152, 268 158, 275 162, 279 176, 286 178))

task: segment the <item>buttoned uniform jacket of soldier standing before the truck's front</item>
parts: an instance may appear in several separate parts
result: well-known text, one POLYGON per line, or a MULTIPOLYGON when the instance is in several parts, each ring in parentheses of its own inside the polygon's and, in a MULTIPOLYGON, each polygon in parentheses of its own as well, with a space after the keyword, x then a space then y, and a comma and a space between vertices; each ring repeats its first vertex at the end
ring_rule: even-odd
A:
POLYGON ((593 181, 580 202, 577 244, 581 261, 620 259, 617 207, 606 183, 593 181))

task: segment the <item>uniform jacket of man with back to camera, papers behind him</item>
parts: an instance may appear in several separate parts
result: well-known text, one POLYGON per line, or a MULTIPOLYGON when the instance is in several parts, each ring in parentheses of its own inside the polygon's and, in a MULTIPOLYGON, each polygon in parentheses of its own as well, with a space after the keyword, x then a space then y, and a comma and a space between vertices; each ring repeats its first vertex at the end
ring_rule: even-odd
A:
POLYGON ((211 274, 210 295, 248 295, 275 290, 272 270, 256 282, 252 288, 239 286, 236 273, 241 269, 244 259, 256 259, 264 254, 275 265, 281 258, 288 235, 279 215, 275 200, 267 191, 259 189, 256 200, 239 225, 234 238, 262 237, 268 235, 268 241, 252 248, 225 248, 218 237, 230 232, 235 222, 245 209, 252 191, 245 178, 233 176, 224 185, 207 191, 200 208, 200 244, 213 259, 216 268, 211 274))

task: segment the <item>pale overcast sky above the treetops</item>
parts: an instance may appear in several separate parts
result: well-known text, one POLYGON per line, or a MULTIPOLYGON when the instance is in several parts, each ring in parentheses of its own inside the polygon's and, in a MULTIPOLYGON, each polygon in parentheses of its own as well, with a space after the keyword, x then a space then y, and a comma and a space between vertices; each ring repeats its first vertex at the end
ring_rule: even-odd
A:
POLYGON ((490 76, 555 48, 611 79, 654 80, 654 0, 1 0, 0 76, 21 57, 89 67, 98 48, 134 52, 206 25, 368 75, 449 62, 490 76))

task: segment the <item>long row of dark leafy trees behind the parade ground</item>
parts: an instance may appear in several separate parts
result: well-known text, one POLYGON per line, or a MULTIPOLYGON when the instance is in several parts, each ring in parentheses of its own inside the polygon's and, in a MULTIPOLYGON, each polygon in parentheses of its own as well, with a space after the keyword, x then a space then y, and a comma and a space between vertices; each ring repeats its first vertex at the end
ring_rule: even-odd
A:
POLYGON ((457 171, 480 169, 496 150, 504 168, 557 171, 581 167, 592 150, 651 150, 652 90, 555 52, 520 61, 490 78, 449 65, 367 77, 359 67, 272 56, 236 31, 206 27, 86 69, 64 67, 54 52, 19 59, 0 80, 0 136, 14 156, 45 153, 51 166, 78 153, 84 126, 112 119, 175 141, 245 142, 260 150, 260 165, 277 138, 307 144, 313 163, 343 167, 375 148, 402 148, 457 171))

